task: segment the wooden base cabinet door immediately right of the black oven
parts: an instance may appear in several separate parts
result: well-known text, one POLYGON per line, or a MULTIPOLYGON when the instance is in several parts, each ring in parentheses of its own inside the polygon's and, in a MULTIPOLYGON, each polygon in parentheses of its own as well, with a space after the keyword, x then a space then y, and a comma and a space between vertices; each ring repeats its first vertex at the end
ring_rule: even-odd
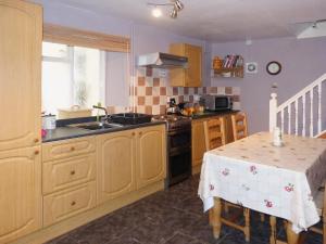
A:
POLYGON ((200 166, 205 150, 204 120, 193 120, 191 124, 192 167, 200 166))

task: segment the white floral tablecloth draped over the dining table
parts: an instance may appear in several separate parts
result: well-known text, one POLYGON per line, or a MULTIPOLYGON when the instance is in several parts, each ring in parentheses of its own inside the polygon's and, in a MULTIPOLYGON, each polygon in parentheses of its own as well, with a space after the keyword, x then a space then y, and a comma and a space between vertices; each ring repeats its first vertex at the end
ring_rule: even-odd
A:
POLYGON ((318 222, 313 197, 326 178, 326 140, 260 132, 204 154, 198 194, 214 196, 292 222, 296 233, 318 222))

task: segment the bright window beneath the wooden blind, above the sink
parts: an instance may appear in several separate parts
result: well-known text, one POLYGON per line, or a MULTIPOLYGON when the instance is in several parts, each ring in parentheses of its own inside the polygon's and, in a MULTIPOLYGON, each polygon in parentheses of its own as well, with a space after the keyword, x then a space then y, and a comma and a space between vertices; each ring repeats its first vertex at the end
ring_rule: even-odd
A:
POLYGON ((43 42, 42 55, 42 111, 105 104, 105 51, 43 42))

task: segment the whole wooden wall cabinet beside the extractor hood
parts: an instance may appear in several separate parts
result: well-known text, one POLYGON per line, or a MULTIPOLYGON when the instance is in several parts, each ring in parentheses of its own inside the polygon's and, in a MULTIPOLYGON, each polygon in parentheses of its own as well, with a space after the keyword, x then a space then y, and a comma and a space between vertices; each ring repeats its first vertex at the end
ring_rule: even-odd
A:
POLYGON ((187 43, 173 43, 170 53, 187 56, 188 68, 173 68, 170 72, 172 87, 202 86, 202 48, 187 43))

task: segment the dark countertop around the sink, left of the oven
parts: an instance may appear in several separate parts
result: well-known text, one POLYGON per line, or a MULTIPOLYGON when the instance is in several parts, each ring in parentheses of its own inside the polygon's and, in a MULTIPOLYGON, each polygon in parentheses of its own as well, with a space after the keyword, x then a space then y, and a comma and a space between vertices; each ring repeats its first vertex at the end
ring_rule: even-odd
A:
POLYGON ((66 139, 95 136, 101 133, 110 133, 110 132, 130 130, 130 129, 137 129, 141 127, 163 125, 163 124, 165 124, 165 121, 151 121, 151 123, 143 123, 140 125, 126 125, 124 127, 100 129, 100 130, 87 130, 87 129, 80 129, 76 127, 63 126, 63 127, 57 127, 57 129, 54 130, 47 130, 47 136, 42 138, 42 142, 51 142, 51 141, 66 140, 66 139))

